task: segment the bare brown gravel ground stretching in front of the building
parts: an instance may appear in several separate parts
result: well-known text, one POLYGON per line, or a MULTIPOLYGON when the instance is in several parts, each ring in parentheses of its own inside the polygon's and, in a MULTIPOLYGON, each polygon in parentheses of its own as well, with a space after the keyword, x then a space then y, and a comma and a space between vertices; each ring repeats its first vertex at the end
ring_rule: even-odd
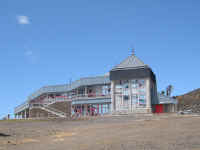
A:
POLYGON ((200 116, 0 121, 0 150, 200 150, 200 116))

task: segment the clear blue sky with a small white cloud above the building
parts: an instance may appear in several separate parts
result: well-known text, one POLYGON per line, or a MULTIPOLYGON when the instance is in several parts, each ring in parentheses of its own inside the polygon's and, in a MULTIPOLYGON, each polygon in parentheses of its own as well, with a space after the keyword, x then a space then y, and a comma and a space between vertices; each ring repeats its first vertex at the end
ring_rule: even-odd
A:
POLYGON ((130 55, 158 90, 200 88, 200 1, 0 2, 0 117, 44 85, 101 75, 130 55))

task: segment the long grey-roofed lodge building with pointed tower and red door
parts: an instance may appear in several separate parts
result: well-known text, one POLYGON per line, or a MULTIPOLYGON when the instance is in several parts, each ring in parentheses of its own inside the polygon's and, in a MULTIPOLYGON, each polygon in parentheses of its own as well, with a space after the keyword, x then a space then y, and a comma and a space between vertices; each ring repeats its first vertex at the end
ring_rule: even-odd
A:
POLYGON ((152 69, 134 54, 103 76, 44 86, 14 110, 16 118, 175 112, 177 100, 157 92, 152 69))

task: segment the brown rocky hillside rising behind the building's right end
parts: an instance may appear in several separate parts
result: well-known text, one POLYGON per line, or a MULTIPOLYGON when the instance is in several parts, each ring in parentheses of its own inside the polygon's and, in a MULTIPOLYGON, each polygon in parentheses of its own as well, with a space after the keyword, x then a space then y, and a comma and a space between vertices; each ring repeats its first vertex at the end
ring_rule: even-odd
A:
POLYGON ((179 110, 191 110, 200 113, 200 89, 176 97, 178 99, 179 110))

